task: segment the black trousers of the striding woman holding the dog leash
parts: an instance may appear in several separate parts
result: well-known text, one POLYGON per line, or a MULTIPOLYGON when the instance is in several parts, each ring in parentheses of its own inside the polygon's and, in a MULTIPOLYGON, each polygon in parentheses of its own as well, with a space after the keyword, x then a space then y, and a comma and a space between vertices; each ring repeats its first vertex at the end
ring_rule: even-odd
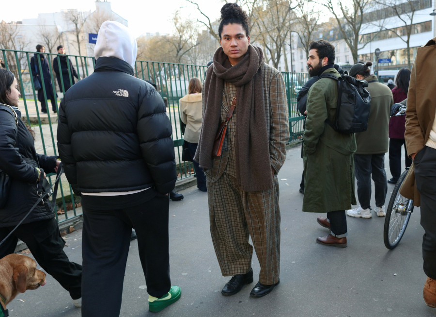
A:
MULTIPOLYGON (((0 228, 0 241, 14 228, 0 228)), ((82 297, 82 266, 68 260, 55 218, 20 225, 0 246, 0 258, 14 253, 18 239, 27 244, 36 262, 70 292, 73 300, 82 297)))

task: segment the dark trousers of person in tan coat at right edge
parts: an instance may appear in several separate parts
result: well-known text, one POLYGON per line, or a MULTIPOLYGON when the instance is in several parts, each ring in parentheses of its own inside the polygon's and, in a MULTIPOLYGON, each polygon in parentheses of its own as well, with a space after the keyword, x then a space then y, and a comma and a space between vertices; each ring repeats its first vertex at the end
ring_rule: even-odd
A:
POLYGON ((421 196, 422 257, 424 273, 436 280, 436 150, 424 147, 414 160, 415 180, 421 196))

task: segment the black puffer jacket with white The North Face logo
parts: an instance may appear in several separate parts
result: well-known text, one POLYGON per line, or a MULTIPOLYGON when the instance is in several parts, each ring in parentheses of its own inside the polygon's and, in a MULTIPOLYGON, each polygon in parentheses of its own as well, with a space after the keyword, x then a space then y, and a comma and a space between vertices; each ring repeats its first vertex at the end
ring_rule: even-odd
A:
POLYGON ((174 189, 171 122, 162 97, 133 68, 99 57, 59 107, 58 149, 76 194, 174 189))

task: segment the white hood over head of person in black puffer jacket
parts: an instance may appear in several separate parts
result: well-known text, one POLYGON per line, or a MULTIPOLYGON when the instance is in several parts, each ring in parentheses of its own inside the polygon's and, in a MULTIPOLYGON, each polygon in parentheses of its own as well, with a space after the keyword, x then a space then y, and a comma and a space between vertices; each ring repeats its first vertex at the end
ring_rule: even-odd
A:
POLYGON ((129 29, 116 21, 105 21, 100 27, 94 48, 95 59, 116 57, 135 68, 138 44, 129 29))

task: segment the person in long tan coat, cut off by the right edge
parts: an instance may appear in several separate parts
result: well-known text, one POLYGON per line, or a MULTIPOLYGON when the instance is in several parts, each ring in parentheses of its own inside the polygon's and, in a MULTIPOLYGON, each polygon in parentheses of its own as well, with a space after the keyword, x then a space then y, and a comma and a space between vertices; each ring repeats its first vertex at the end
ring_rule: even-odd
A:
POLYGON ((436 308, 436 37, 418 48, 407 95, 405 143, 413 164, 401 195, 420 205, 425 303, 436 308))

